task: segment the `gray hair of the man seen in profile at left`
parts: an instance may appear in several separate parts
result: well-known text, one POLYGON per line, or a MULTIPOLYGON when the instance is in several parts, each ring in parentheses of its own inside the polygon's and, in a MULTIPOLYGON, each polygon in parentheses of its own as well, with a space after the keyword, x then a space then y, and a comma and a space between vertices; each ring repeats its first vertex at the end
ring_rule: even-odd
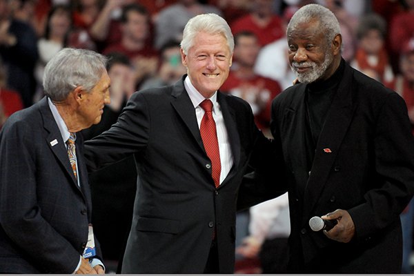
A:
POLYGON ((63 101, 77 86, 90 92, 105 72, 107 60, 92 50, 63 48, 46 64, 45 95, 53 101, 63 101))

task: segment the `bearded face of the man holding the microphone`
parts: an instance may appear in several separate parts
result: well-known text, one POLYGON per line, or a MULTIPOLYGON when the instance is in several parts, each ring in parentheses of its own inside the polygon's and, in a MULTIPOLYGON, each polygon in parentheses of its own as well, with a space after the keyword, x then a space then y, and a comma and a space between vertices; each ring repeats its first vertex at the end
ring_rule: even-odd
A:
POLYGON ((317 20, 292 28, 288 33, 288 57, 299 82, 311 83, 331 77, 339 66, 340 45, 339 34, 332 43, 326 41, 317 20))

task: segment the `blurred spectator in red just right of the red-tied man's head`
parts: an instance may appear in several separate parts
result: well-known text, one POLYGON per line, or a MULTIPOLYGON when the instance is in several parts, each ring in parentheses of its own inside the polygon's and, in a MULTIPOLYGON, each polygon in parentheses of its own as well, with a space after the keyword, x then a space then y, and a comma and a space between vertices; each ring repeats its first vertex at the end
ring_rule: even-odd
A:
POLYGON ((235 35, 232 70, 220 90, 250 103, 257 127, 266 134, 270 126, 270 103, 282 89, 277 81, 256 75, 254 66, 259 50, 260 45, 253 32, 235 35))

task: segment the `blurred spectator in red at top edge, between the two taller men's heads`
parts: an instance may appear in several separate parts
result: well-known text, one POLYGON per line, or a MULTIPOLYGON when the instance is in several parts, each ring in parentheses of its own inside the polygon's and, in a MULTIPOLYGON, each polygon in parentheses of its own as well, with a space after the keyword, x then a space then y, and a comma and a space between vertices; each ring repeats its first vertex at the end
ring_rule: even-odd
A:
POLYGON ((252 10, 231 24, 233 34, 248 30, 256 34, 261 46, 273 42, 285 34, 284 21, 273 12, 272 0, 252 1, 252 10))

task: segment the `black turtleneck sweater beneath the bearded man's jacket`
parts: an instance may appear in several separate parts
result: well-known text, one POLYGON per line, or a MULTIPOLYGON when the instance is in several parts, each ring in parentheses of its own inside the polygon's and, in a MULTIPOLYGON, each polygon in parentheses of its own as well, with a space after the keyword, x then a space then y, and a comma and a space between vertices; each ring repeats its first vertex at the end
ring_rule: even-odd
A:
POLYGON ((315 81, 306 86, 306 159, 311 170, 319 135, 324 127, 326 114, 344 74, 345 61, 342 59, 335 73, 324 81, 315 81))

